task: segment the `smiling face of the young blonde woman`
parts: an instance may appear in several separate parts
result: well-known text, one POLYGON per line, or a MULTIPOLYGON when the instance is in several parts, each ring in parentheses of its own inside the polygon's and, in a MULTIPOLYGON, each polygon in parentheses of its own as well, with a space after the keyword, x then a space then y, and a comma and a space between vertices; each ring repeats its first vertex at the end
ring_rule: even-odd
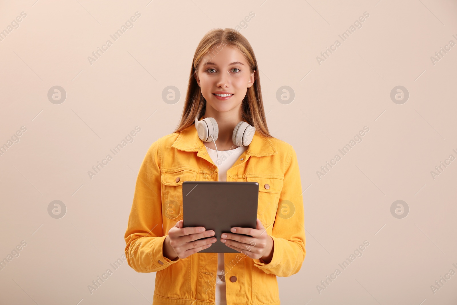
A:
POLYGON ((254 85, 255 71, 251 73, 244 55, 228 45, 218 53, 203 57, 197 68, 195 78, 207 107, 212 107, 218 112, 239 109, 248 88, 254 85))

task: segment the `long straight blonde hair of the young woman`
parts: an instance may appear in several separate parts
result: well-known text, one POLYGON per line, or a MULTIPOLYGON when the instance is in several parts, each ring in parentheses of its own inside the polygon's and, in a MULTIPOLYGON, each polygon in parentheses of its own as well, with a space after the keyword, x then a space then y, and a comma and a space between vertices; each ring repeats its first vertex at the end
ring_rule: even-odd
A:
MULTIPOLYGON (((200 86, 194 74, 197 71, 198 64, 202 58, 207 55, 217 54, 219 47, 231 46, 237 48, 248 61, 250 73, 254 74, 254 85, 247 88, 246 96, 241 103, 241 117, 250 125, 255 127, 255 130, 266 137, 272 137, 268 131, 265 119, 265 111, 263 108, 262 94, 260 90, 260 76, 257 70, 257 59, 255 59, 254 51, 251 48, 248 40, 238 31, 233 28, 215 28, 210 30, 203 36, 202 40, 195 50, 194 59, 192 60, 191 75, 189 77, 189 85, 187 87, 186 101, 181 114, 181 121, 174 132, 181 132, 185 128, 194 123, 195 117, 201 118, 206 110, 206 100, 202 95, 200 86), (216 48, 215 48, 216 47, 216 48)), ((219 49, 220 51, 221 49, 219 49)))

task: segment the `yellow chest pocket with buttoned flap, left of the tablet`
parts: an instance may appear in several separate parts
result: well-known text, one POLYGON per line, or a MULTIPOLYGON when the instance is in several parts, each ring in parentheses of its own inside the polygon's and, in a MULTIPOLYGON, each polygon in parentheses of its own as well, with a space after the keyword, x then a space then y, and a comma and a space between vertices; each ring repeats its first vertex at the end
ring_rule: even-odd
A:
POLYGON ((162 172, 162 211, 165 217, 179 221, 182 215, 182 182, 195 181, 197 172, 182 170, 176 172, 162 172))

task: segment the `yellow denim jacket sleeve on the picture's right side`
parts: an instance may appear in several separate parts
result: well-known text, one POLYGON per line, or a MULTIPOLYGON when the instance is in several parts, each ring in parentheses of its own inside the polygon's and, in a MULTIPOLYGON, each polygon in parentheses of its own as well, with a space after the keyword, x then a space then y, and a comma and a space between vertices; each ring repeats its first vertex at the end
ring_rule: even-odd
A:
POLYGON ((273 257, 264 263, 254 259, 254 265, 265 273, 288 277, 298 273, 305 259, 305 228, 302 184, 297 154, 290 147, 284 182, 273 224, 273 257))

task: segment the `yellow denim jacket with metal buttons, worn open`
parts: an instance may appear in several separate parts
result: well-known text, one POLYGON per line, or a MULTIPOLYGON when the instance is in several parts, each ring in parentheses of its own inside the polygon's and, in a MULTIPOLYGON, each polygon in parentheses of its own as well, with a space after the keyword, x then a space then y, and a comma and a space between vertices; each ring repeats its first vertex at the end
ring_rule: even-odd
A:
MULTIPOLYGON (((163 256, 168 231, 183 219, 184 181, 218 181, 218 169, 193 124, 151 144, 136 181, 125 255, 135 271, 157 272, 153 305, 209 305, 215 301, 217 253, 195 253, 173 261, 163 256)), ((274 242, 269 263, 243 253, 224 253, 227 304, 278 305, 276 276, 298 273, 306 254, 295 150, 286 142, 255 132, 248 149, 228 169, 227 181, 259 183, 257 217, 274 242)))

